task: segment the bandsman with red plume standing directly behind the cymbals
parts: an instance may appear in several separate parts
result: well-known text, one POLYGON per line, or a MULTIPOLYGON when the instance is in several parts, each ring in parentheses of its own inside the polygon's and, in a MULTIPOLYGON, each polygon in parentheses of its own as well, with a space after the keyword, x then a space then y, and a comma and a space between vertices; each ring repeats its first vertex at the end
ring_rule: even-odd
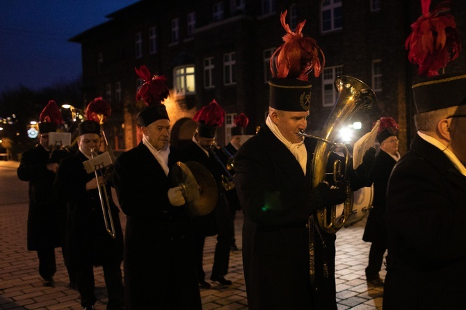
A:
POLYGON ((198 122, 193 140, 184 147, 184 152, 191 161, 204 165, 217 183, 218 199, 214 211, 193 218, 195 229, 196 263, 198 265, 198 282, 200 288, 210 288, 205 281, 205 272, 202 266, 204 256, 204 241, 206 236, 217 235, 217 244, 214 254, 214 266, 212 266, 211 281, 221 285, 231 285, 232 282, 225 279, 230 263, 230 244, 234 236, 234 226, 225 197, 225 188, 222 186, 222 175, 225 174, 225 165, 214 152, 216 130, 223 124, 225 111, 218 105, 215 99, 210 104, 200 109, 193 117, 198 122))

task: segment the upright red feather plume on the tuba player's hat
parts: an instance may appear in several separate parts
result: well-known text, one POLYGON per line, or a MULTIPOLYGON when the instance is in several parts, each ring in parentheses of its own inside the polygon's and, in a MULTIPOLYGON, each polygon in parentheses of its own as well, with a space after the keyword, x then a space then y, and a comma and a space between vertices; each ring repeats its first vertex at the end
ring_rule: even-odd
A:
POLYGON ((307 74, 312 70, 314 76, 318 77, 326 64, 323 51, 317 46, 316 40, 301 33, 306 20, 300 22, 296 26, 296 32, 293 32, 285 22, 286 17, 287 10, 280 15, 280 22, 287 31, 283 36, 284 43, 273 52, 270 60, 273 77, 307 81, 307 74))

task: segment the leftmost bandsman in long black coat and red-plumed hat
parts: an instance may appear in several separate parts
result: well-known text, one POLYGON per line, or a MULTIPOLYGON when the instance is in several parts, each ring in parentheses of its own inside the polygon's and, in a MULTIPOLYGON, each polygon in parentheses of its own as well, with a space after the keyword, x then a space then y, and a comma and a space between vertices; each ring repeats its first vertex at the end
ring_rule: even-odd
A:
MULTIPOLYGON (((49 101, 39 118, 39 144, 22 154, 17 176, 22 181, 29 181, 28 250, 37 251, 43 284, 54 286, 55 247, 63 247, 66 208, 55 195, 58 163, 51 161, 49 133, 56 131, 63 120, 53 100, 49 101)), ((68 269, 68 273, 70 286, 74 288, 74 272, 68 269)))

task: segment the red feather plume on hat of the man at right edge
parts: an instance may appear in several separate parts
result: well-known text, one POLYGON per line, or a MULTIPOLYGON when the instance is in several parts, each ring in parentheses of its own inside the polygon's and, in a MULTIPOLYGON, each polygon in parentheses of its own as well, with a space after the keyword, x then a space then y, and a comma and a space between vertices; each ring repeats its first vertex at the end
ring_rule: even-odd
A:
POLYGON ((435 76, 447 63, 460 55, 460 34, 450 12, 451 1, 443 1, 429 12, 431 0, 422 0, 422 15, 412 23, 405 42, 408 59, 419 65, 418 74, 435 76))

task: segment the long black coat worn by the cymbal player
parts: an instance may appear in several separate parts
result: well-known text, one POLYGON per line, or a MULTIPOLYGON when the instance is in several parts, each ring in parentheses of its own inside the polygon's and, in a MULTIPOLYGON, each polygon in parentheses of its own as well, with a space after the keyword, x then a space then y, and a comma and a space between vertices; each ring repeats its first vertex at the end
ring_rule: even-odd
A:
POLYGON ((124 245, 126 309, 201 309, 185 206, 172 206, 172 166, 185 161, 170 147, 168 177, 142 142, 121 154, 113 180, 127 215, 124 245))

